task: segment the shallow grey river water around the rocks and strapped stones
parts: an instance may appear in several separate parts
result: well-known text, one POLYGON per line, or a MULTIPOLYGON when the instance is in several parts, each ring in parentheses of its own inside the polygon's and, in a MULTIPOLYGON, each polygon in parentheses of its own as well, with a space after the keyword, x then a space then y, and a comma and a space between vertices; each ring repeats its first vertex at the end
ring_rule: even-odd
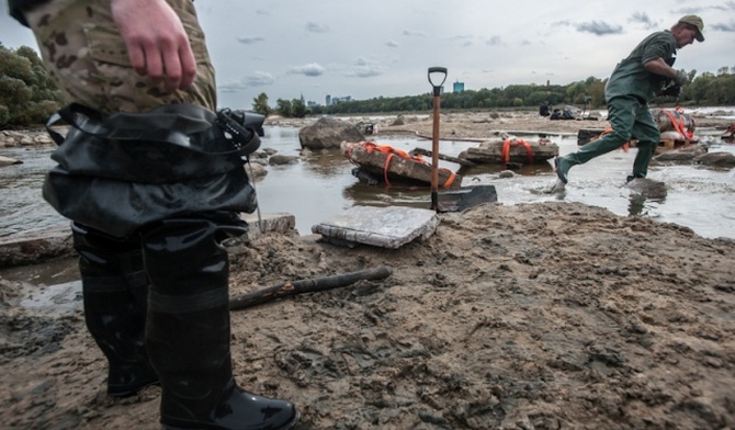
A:
MULTIPOLYGON (((549 137, 559 146, 562 155, 577 149, 576 136, 549 137)), ((735 145, 722 144, 714 133, 703 139, 711 144, 711 152, 735 154, 735 145)), ((431 148, 430 140, 417 138, 378 135, 374 142, 404 150, 431 148)), ((475 145, 442 140, 440 152, 456 156, 475 145)), ((282 155, 299 155, 298 128, 269 127, 261 148, 273 148, 282 155)), ((23 161, 0 168, 0 240, 68 225, 41 197, 44 173, 54 165, 49 158, 52 150, 53 147, 0 149, 0 155, 23 161)), ((664 181, 668 195, 663 201, 641 202, 623 186, 634 158, 635 149, 619 150, 576 167, 572 169, 569 184, 563 193, 549 192, 556 182, 551 163, 527 167, 509 179, 500 179, 497 167, 463 168, 460 173, 464 176, 463 185, 495 185, 498 202, 502 204, 580 202, 606 207, 619 215, 643 215, 676 223, 703 237, 735 238, 735 169, 717 171, 694 166, 652 166, 648 177, 664 181)), ((451 162, 440 161, 440 166, 459 169, 451 162)), ((268 174, 256 183, 260 210, 263 214, 294 214, 299 234, 308 235, 313 225, 353 205, 429 207, 428 188, 368 185, 352 176, 353 168, 337 149, 304 155, 294 165, 269 166, 268 174)))

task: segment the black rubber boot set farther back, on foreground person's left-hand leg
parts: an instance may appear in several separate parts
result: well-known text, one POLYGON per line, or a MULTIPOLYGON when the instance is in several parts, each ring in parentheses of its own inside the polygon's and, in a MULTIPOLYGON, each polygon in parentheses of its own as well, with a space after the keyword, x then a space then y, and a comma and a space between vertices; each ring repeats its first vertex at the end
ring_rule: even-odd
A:
POLYGON ((84 320, 108 358, 108 394, 134 395, 158 383, 145 347, 148 278, 137 240, 117 240, 74 225, 84 320))

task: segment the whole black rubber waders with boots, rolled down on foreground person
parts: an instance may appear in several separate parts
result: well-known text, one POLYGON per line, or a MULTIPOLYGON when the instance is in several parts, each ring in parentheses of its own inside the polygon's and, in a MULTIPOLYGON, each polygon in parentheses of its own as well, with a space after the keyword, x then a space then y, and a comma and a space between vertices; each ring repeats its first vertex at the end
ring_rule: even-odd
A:
POLYGON ((166 428, 291 428, 298 412, 290 401, 244 392, 231 373, 229 267, 220 241, 247 233, 237 214, 257 207, 242 157, 258 148, 262 117, 249 124, 253 116, 245 113, 190 104, 106 118, 72 105, 59 116, 71 128, 66 138, 55 135, 58 166, 43 193, 78 226, 88 327, 111 375, 121 373, 113 365, 125 371, 109 393, 129 395, 160 381, 166 428), (136 251, 142 265, 124 264, 136 251), (132 315, 128 307, 100 305, 125 303, 132 276, 109 272, 124 275, 128 265, 145 268, 149 288, 147 309, 139 307, 145 319, 135 324, 117 317, 132 315), (110 316, 121 322, 103 325, 110 316), (140 337, 145 350, 121 340, 140 337))

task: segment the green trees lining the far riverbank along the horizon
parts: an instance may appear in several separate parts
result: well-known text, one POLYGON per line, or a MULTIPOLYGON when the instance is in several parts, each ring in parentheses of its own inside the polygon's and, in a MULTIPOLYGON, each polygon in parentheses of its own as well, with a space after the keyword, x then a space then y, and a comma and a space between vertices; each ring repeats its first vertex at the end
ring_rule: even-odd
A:
MULTIPOLYGON (((686 71, 685 71, 686 72, 686 71)), ((687 105, 735 105, 735 67, 722 67, 716 73, 696 70, 687 72, 691 83, 678 100, 660 99, 657 103, 687 105)), ((559 86, 511 84, 504 88, 445 92, 441 106, 445 110, 488 110, 539 106, 549 101, 553 106, 577 105, 589 109, 604 106, 607 80, 589 77, 584 81, 559 86)), ((64 105, 64 97, 44 68, 36 52, 27 46, 5 48, 0 43, 0 127, 43 124, 64 105)), ((303 98, 278 99, 269 104, 262 92, 253 99, 252 110, 263 115, 276 113, 285 117, 306 115, 368 114, 421 112, 433 108, 433 95, 418 95, 342 101, 330 106, 307 106, 303 98)))

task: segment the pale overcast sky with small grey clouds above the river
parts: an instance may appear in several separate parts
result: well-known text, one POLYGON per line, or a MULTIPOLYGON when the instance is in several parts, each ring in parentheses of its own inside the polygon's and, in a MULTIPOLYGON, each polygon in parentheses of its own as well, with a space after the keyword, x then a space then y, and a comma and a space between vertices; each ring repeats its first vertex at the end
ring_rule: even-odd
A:
MULTIPOLYGON (((3 9, 7 0, 0 0, 3 9)), ((676 68, 735 67, 735 0, 196 0, 217 70, 222 106, 327 95, 364 100, 431 90, 427 69, 449 70, 445 90, 607 78, 646 35, 685 14, 704 20, 704 43, 676 68)), ((0 42, 35 47, 30 30, 0 18, 0 42)))

